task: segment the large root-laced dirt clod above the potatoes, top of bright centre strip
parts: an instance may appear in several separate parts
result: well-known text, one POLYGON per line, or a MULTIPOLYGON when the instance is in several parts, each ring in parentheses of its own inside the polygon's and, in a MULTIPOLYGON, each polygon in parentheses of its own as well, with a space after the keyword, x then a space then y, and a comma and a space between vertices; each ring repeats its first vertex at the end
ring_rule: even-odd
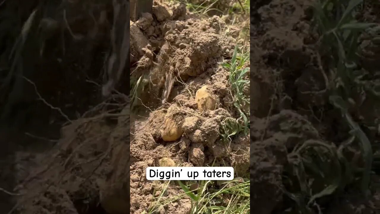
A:
MULTIPOLYGON (((131 22, 131 29, 135 29, 131 31, 131 38, 138 38, 131 41, 131 62, 136 62, 133 71, 136 76, 152 70, 145 72, 145 78, 156 88, 150 93, 157 92, 155 96, 158 97, 162 94, 161 90, 165 90, 168 93, 162 99, 166 101, 176 82, 174 78, 187 81, 189 77, 212 69, 222 57, 231 56, 236 41, 220 36, 225 23, 216 16, 203 20, 191 18, 185 14, 183 4, 169 10, 172 13, 161 5, 157 7, 165 9, 160 13, 171 16, 158 19, 160 15, 156 11, 154 17, 144 14, 136 23, 131 22), (157 53, 155 58, 154 53, 157 53)), ((144 99, 143 95, 139 97, 144 99)), ((147 103, 146 100, 143 102, 147 103)))

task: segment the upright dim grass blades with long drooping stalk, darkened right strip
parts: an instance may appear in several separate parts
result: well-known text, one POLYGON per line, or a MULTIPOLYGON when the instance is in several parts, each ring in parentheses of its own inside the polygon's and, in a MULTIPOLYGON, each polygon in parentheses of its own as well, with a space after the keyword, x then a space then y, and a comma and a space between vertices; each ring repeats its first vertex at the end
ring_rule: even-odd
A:
MULTIPOLYGON (((361 190, 367 195, 372 164, 372 145, 360 126, 348 113, 353 90, 361 87, 357 83, 359 36, 371 32, 377 27, 375 23, 360 23, 355 19, 356 10, 363 0, 320 2, 316 6, 316 20, 321 34, 321 42, 330 54, 329 69, 333 74, 330 102, 341 110, 351 127, 351 133, 360 142, 365 163, 361 178, 361 190)), ((352 102, 352 101, 351 101, 352 102)))

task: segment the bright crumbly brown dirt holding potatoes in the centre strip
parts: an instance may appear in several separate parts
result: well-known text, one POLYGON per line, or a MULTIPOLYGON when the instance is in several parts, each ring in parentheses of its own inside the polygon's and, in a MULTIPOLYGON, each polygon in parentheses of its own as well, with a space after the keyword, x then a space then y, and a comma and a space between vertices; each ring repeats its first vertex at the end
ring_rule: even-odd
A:
POLYGON ((146 180, 145 169, 169 158, 175 166, 233 166, 237 176, 249 175, 249 136, 231 142, 220 136, 225 119, 239 114, 230 94, 230 73, 219 64, 231 58, 236 40, 222 19, 195 18, 183 4, 155 2, 153 16, 143 14, 131 22, 132 28, 133 75, 144 76, 149 92, 139 98, 156 110, 133 128, 131 213, 189 213, 190 198, 175 199, 183 190, 146 180))

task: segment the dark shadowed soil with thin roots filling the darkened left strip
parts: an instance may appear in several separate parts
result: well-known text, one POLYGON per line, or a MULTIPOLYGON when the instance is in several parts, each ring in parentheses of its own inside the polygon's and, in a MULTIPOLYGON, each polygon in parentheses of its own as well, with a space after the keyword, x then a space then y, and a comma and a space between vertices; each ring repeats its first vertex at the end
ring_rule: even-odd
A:
MULTIPOLYGON (((0 4, 1 213, 106 213, 117 196, 128 204, 129 98, 101 96, 112 3, 118 1, 0 4), (24 46, 14 47, 22 56, 16 61, 9 56, 26 31, 24 46)), ((117 89, 129 93, 126 85, 117 89)))

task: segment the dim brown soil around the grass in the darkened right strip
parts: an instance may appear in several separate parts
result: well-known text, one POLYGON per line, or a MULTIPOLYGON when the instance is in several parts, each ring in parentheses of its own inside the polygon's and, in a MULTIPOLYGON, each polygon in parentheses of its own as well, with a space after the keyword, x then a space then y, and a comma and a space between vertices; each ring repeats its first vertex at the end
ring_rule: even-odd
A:
MULTIPOLYGON (((250 179, 251 210, 257 214, 303 213, 283 191, 299 188, 289 184, 291 175, 285 174, 288 154, 296 145, 315 141, 339 146, 349 137, 340 112, 329 104, 330 74, 322 72, 324 58, 317 52, 318 38, 311 30, 313 3, 263 0, 251 5, 250 179)), ((378 23, 378 5, 369 1, 366 8, 360 19, 378 23)), ((376 46, 368 45, 365 50, 370 55, 363 54, 361 66, 374 74, 380 52, 370 51, 376 46)), ((374 145, 379 140, 378 104, 378 98, 369 95, 353 110, 374 145)), ((354 187, 317 200, 320 213, 380 213, 378 190, 372 186, 369 200, 354 187)))

